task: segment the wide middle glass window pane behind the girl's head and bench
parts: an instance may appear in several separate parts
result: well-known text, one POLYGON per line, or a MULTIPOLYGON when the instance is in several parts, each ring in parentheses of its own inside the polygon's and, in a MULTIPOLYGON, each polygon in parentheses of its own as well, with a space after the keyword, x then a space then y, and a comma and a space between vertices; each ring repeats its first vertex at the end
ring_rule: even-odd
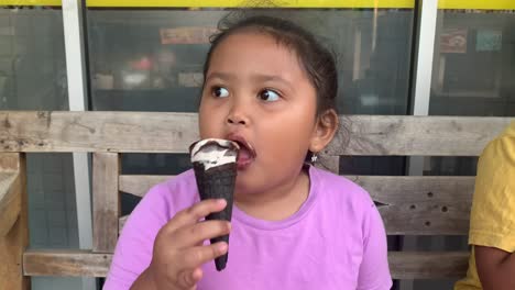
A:
MULTIPOLYGON (((197 112, 209 35, 216 32, 220 19, 235 10, 106 8, 108 2, 87 1, 92 110, 197 112)), ((320 5, 336 2, 317 1, 320 5)), ((414 1, 397 2, 403 4, 246 13, 287 15, 335 52, 340 113, 407 114, 414 1)), ((125 174, 178 174, 189 167, 187 155, 122 157, 125 174)), ((405 158, 342 158, 340 167, 342 174, 403 175, 405 158)), ((123 194, 123 213, 129 213, 135 202, 123 194)), ((391 239, 390 246, 398 246, 398 239, 391 239)))

